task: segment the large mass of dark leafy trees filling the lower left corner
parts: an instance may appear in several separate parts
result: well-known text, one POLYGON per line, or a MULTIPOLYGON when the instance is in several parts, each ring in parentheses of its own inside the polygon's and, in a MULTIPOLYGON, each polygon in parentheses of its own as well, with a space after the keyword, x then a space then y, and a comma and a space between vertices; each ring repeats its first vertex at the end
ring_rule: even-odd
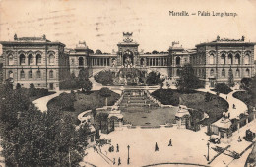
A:
POLYGON ((27 95, 1 87, 0 136, 7 166, 78 166, 84 156, 87 125, 57 109, 42 113, 27 95))

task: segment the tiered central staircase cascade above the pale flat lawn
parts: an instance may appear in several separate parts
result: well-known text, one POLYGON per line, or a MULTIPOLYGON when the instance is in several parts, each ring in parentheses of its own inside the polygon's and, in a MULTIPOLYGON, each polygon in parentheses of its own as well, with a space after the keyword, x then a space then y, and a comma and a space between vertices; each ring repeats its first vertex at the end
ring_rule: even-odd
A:
POLYGON ((119 104, 122 112, 140 112, 158 108, 159 104, 150 99, 147 90, 124 90, 123 99, 119 104))

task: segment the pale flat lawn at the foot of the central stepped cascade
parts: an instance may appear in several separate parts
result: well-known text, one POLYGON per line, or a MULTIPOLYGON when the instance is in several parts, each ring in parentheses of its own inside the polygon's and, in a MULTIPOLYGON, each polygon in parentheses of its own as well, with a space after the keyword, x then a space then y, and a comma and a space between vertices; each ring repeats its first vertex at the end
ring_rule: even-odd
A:
POLYGON ((141 112, 122 112, 125 123, 134 126, 159 126, 165 123, 173 123, 177 107, 158 108, 141 112))

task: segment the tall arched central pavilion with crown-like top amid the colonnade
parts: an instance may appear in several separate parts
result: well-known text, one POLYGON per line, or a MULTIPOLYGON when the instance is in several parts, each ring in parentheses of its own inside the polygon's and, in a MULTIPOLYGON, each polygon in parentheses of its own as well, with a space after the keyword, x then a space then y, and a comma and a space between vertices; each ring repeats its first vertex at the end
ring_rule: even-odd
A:
POLYGON ((140 65, 138 46, 132 39, 133 33, 123 32, 123 41, 118 43, 117 66, 132 68, 140 65))

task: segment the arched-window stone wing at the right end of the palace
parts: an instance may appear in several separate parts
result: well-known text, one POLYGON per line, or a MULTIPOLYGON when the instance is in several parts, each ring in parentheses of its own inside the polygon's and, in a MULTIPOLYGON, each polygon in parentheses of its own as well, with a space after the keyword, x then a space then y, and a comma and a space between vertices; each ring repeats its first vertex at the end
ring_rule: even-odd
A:
POLYGON ((196 75, 206 86, 214 87, 216 83, 227 83, 233 74, 235 83, 242 78, 254 75, 254 45, 241 39, 220 39, 196 45, 197 54, 191 56, 190 63, 196 75))

